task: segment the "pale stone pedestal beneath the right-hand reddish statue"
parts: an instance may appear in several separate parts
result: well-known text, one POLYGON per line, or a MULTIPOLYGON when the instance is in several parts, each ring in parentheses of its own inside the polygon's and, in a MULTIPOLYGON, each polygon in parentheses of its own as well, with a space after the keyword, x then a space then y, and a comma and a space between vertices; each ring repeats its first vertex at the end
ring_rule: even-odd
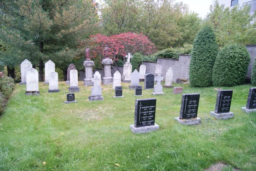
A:
POLYGON ((113 64, 113 61, 109 58, 105 58, 102 60, 102 64, 104 65, 104 77, 102 77, 102 84, 113 84, 113 77, 111 77, 111 65, 113 64))

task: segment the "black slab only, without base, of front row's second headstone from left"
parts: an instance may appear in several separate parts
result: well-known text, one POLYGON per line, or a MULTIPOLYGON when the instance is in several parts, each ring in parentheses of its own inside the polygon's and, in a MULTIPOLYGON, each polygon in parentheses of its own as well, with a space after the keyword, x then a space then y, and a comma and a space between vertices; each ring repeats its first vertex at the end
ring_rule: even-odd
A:
POLYGON ((180 119, 196 118, 200 94, 182 94, 180 119))

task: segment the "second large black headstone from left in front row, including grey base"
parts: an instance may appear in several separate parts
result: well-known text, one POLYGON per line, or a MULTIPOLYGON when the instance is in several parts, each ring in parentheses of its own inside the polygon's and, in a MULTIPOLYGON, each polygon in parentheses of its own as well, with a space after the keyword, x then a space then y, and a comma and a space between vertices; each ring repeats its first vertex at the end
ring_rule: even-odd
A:
POLYGON ((182 94, 180 117, 175 119, 183 125, 198 125, 201 119, 197 117, 200 94, 182 94))

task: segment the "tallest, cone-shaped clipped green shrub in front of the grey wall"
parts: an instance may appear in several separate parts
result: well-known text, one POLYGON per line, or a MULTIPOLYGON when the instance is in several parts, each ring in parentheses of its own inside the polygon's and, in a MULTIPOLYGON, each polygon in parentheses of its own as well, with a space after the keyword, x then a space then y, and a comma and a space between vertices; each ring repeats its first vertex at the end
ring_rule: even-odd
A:
POLYGON ((189 65, 189 80, 192 86, 212 85, 212 66, 218 54, 215 33, 204 26, 196 35, 189 65))

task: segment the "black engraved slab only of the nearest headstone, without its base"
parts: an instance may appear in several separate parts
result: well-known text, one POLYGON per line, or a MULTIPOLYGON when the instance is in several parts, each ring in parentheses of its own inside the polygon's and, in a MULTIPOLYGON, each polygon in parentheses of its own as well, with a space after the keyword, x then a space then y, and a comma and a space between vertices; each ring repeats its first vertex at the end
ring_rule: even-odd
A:
POLYGON ((154 125, 157 99, 136 99, 134 126, 154 125))

